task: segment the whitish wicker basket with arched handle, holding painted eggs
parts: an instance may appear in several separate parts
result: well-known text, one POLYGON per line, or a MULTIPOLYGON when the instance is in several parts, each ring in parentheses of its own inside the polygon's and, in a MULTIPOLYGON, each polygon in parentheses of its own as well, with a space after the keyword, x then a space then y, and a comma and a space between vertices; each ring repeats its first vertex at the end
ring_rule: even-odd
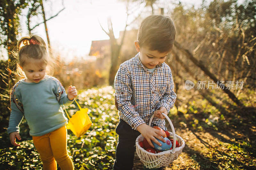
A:
MULTIPOLYGON (((170 133, 170 136, 173 136, 173 148, 172 150, 163 151, 159 153, 150 153, 147 152, 145 149, 140 147, 139 142, 143 141, 144 137, 142 135, 138 136, 136 139, 136 152, 139 156, 141 162, 146 166, 146 168, 159 168, 162 166, 169 166, 170 163, 173 162, 173 160, 177 159, 178 156, 181 154, 182 149, 185 146, 185 141, 178 135, 175 134, 174 127, 172 125, 171 120, 169 117, 165 114, 164 117, 168 120, 168 122, 171 125, 172 132, 170 133), (180 147, 176 148, 176 140, 178 141, 180 147)), ((151 122, 153 120, 154 115, 151 116, 148 125, 151 125, 151 122)))

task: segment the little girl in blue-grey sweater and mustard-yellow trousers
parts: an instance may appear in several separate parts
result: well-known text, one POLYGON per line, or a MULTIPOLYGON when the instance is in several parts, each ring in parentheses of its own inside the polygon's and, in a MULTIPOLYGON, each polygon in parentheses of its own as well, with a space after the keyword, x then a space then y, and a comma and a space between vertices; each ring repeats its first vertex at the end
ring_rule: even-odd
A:
POLYGON ((15 139, 21 139, 19 125, 24 116, 44 170, 56 170, 56 161, 62 170, 74 169, 67 152, 67 118, 60 106, 68 106, 74 101, 76 87, 69 86, 66 94, 57 78, 46 75, 46 69, 52 62, 47 55, 45 42, 39 36, 21 38, 18 42, 18 60, 17 68, 23 71, 26 78, 12 88, 7 129, 11 143, 20 146, 15 139))

